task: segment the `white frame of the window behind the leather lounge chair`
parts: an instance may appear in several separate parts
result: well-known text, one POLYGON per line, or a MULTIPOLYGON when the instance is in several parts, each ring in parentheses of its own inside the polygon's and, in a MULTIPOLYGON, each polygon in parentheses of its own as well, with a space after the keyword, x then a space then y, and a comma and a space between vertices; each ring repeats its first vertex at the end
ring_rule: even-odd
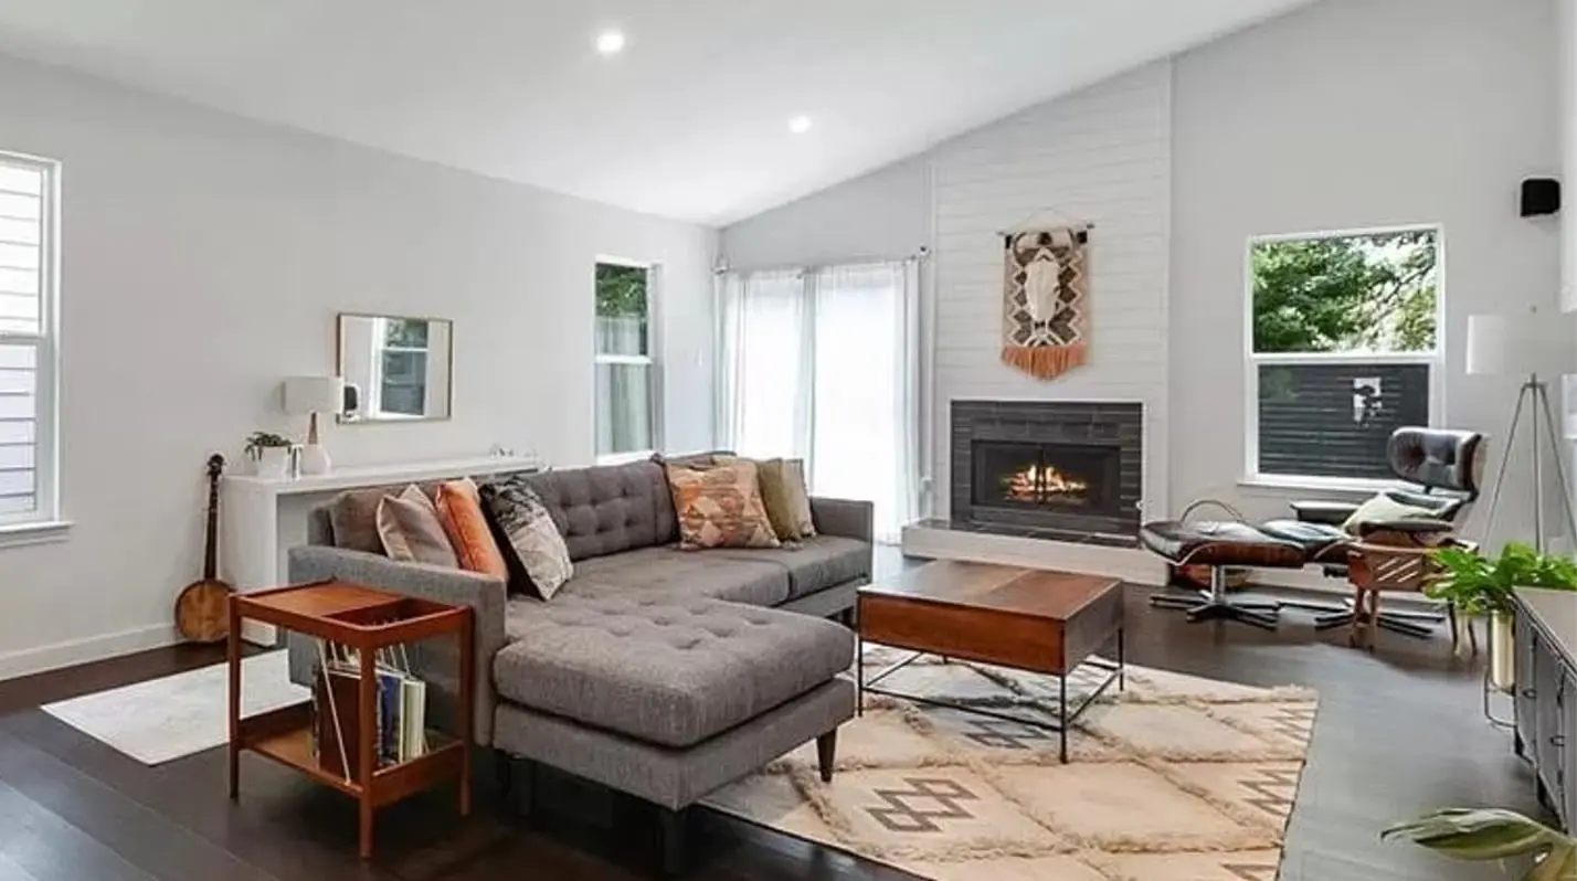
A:
POLYGON ((1260 471, 1260 367, 1277 364, 1426 364, 1429 366, 1429 426, 1440 427, 1446 414, 1446 232, 1441 224, 1396 224, 1348 230, 1320 230, 1251 236, 1243 249, 1243 479, 1246 487, 1312 489, 1377 492, 1396 487, 1397 481, 1363 478, 1325 478, 1318 474, 1265 474, 1260 471), (1435 348, 1433 351, 1254 351, 1254 247, 1271 241, 1309 241, 1318 238, 1356 238, 1404 232, 1429 232, 1435 236, 1435 348))

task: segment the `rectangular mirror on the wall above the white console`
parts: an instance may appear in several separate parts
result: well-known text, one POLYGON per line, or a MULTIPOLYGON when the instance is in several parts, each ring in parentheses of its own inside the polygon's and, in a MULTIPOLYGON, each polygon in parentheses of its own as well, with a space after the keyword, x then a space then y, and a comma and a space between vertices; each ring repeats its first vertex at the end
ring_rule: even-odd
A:
POLYGON ((341 422, 448 419, 454 405, 454 323, 339 315, 341 422))

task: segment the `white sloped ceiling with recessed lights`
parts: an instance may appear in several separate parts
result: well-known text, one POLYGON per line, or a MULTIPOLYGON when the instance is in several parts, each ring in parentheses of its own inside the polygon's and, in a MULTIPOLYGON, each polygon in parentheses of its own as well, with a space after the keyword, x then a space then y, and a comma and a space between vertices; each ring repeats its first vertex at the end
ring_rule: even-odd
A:
POLYGON ((724 224, 1304 2, 6 0, 0 52, 724 224))

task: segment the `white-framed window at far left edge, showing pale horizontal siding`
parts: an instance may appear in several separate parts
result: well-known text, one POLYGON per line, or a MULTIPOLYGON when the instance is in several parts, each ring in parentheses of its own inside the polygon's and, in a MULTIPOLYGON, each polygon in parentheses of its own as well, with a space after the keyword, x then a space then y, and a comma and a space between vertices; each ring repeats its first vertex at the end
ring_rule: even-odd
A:
POLYGON ((57 169, 0 153, 0 526, 57 517, 57 169))

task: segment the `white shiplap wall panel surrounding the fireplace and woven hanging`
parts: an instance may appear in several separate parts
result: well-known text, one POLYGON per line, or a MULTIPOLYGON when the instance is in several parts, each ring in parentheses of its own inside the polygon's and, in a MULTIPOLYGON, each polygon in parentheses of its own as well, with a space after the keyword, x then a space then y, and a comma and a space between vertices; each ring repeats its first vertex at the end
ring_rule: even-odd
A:
POLYGON ((1167 493, 1167 63, 941 145, 935 164, 935 512, 956 399, 1145 403, 1145 506, 1167 493), (1055 381, 1001 364, 1003 230, 1091 222, 1090 361, 1055 381))

